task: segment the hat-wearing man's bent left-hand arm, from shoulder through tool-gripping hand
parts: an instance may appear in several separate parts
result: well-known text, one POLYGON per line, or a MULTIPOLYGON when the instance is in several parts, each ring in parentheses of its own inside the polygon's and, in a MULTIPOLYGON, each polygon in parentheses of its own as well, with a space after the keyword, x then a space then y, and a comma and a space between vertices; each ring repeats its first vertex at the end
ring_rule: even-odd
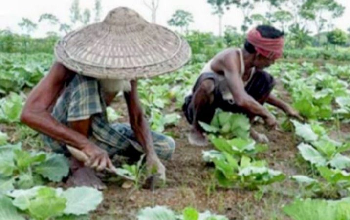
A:
POLYGON ((74 73, 60 63, 55 63, 49 74, 30 92, 21 114, 21 121, 55 140, 83 150, 89 156, 89 164, 99 169, 112 167, 106 151, 100 149, 87 138, 90 119, 72 123, 73 129, 52 117, 49 108, 55 103, 67 80, 74 73))

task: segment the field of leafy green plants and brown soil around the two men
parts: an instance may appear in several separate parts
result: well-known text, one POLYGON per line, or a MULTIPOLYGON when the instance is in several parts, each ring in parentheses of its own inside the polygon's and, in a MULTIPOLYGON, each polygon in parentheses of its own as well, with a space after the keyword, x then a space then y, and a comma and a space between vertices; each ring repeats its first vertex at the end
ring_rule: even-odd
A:
MULTIPOLYGON (((291 103, 305 121, 289 119, 267 106, 281 129, 267 131, 260 120, 253 127, 267 135, 268 144, 249 138, 246 116, 217 110, 210 125, 202 123, 211 145, 189 145, 189 126, 180 107, 203 63, 192 61, 173 74, 141 80, 139 95, 151 128, 171 135, 177 145, 173 159, 165 162, 167 184, 153 192, 142 189, 142 164, 123 164, 121 171, 134 180, 109 177, 108 189, 101 194, 84 187, 63 190, 66 158, 49 153, 40 135, 19 121, 23 102, 47 73, 52 55, 0 57, 2 218, 205 219, 209 211, 222 215, 213 219, 348 218, 341 216, 348 215, 350 205, 349 65, 271 66, 268 71, 278 81, 274 93, 291 103), (71 200, 83 194, 89 196, 71 200), (329 217, 317 214, 326 209, 329 217)), ((115 98, 108 116, 111 122, 128 121, 122 96, 115 98)))

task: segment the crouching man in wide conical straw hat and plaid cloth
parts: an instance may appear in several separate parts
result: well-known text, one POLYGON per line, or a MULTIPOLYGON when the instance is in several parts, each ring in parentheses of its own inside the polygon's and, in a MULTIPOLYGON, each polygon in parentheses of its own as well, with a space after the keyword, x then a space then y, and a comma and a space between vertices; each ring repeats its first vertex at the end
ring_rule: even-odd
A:
POLYGON ((102 188, 94 169, 114 168, 114 155, 138 159, 143 153, 149 170, 165 179, 160 159, 171 158, 175 142, 150 131, 137 79, 174 71, 190 54, 187 42, 172 31, 133 10, 116 8, 103 22, 73 31, 56 45, 57 61, 30 93, 21 120, 44 133, 54 151, 71 156, 68 150, 73 149, 87 156, 85 164, 71 157, 71 184, 102 188), (119 91, 130 125, 107 121, 106 106, 119 91))

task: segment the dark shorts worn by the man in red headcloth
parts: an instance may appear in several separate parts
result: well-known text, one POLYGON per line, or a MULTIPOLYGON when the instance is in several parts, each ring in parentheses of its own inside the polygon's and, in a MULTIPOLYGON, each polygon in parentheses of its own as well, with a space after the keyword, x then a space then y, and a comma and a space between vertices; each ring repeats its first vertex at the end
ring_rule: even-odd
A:
MULTIPOLYGON (((205 114, 201 116, 202 118, 200 118, 200 121, 210 123, 217 108, 233 113, 246 113, 246 110, 242 109, 238 105, 223 99, 222 93, 219 90, 218 86, 218 75, 212 72, 208 72, 203 73, 199 76, 195 83, 195 86, 193 87, 192 94, 185 97, 185 103, 182 106, 182 111, 184 112, 186 119, 190 124, 192 124, 193 122, 194 114, 194 107, 192 102, 193 94, 199 88, 200 84, 207 79, 213 80, 215 85, 214 101, 211 106, 208 106, 205 109, 205 114)), ((266 101, 268 95, 271 93, 274 86, 275 80, 273 76, 271 76, 265 71, 257 71, 255 72, 249 83, 245 86, 245 91, 259 103, 263 104, 266 101)))

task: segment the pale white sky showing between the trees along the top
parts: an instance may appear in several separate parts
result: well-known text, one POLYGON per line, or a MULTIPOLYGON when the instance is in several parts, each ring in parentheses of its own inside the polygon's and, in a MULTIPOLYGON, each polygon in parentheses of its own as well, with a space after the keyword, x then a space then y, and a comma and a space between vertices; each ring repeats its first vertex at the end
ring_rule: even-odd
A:
MULTIPOLYGON (((151 0, 146 1, 150 2, 151 0)), ((159 9, 157 11, 158 24, 167 26, 167 21, 171 18, 171 15, 177 9, 182 9, 193 14, 194 23, 190 25, 190 29, 218 34, 219 20, 217 16, 212 14, 211 6, 206 3, 207 0, 159 1, 159 9)), ((350 27, 350 0, 336 1, 343 4, 346 10, 343 17, 336 19, 334 24, 336 27, 346 31, 350 27)), ((40 15, 43 13, 54 14, 62 22, 69 23, 69 8, 71 3, 72 0, 1 0, 0 29, 9 28, 12 31, 20 33, 21 29, 18 23, 21 22, 22 17, 38 22, 40 15)), ((82 9, 92 9, 93 6, 94 0, 80 0, 80 7, 82 9)), ((146 20, 151 20, 151 11, 145 6, 143 0, 102 0, 102 18, 107 15, 109 10, 119 6, 130 7, 140 13, 146 20)), ((236 8, 231 8, 223 17, 223 26, 231 25, 240 27, 241 23, 241 11, 236 8)), ((309 29, 312 30, 314 27, 311 23, 309 25, 311 25, 309 29)), ((56 27, 56 29, 58 28, 56 27)), ((45 36, 46 32, 51 30, 53 30, 51 26, 40 24, 33 35, 42 37, 45 36)))

